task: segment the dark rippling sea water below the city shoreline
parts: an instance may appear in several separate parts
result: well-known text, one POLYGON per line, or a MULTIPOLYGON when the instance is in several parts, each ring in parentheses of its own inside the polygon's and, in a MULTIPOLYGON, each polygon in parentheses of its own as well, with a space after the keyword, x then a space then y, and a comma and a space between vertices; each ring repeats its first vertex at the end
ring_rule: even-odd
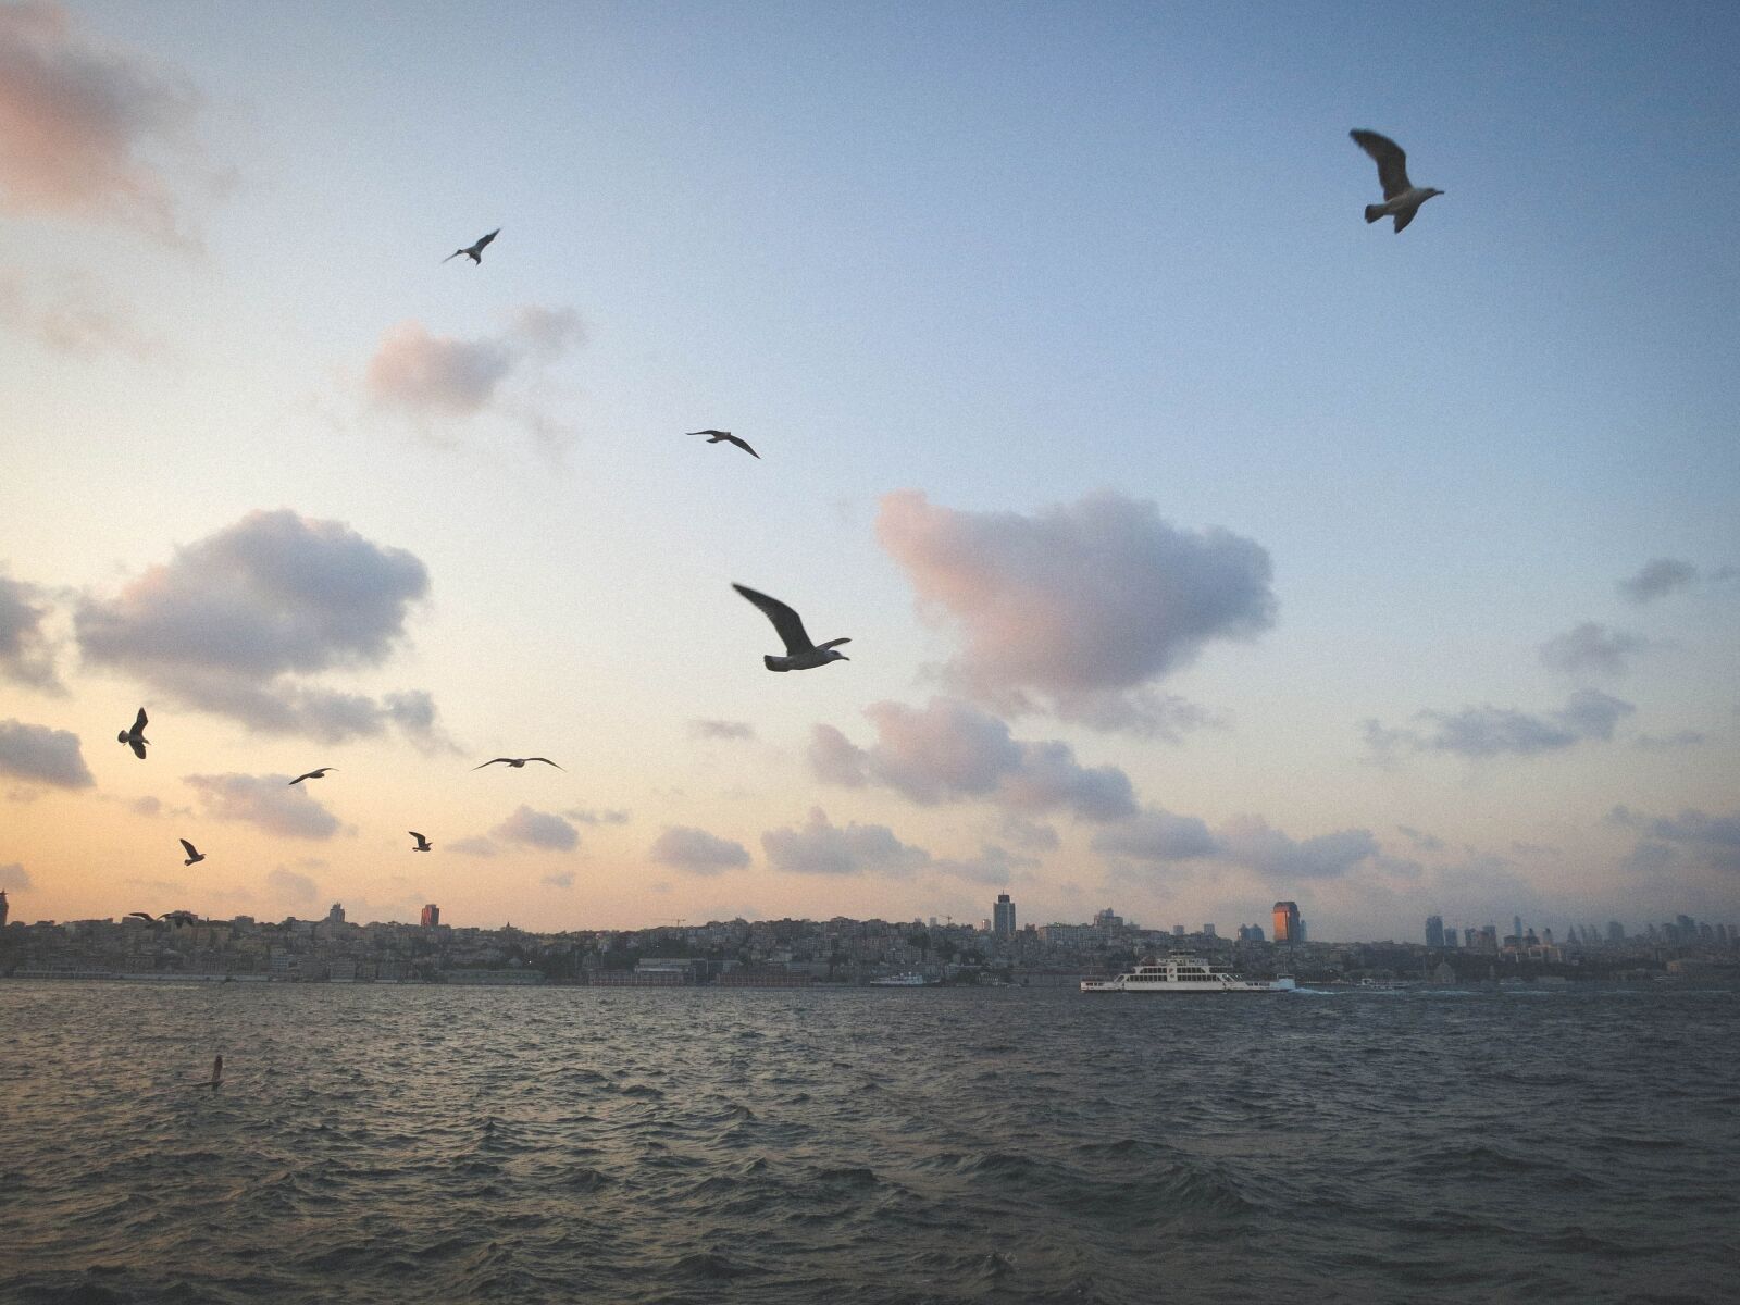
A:
POLYGON ((10 980, 0 1302, 1733 1302, 1737 1035, 1677 983, 10 980))

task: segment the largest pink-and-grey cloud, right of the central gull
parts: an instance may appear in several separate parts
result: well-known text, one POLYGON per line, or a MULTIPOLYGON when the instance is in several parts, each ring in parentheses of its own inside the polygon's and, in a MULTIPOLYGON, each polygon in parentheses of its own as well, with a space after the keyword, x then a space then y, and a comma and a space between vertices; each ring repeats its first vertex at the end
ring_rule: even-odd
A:
POLYGON ((920 611, 966 637, 945 679, 1000 712, 1176 736, 1204 715, 1148 686, 1208 642, 1255 639, 1275 619, 1260 545, 1178 529, 1115 491, 1035 517, 896 491, 882 498, 877 538, 920 611))

